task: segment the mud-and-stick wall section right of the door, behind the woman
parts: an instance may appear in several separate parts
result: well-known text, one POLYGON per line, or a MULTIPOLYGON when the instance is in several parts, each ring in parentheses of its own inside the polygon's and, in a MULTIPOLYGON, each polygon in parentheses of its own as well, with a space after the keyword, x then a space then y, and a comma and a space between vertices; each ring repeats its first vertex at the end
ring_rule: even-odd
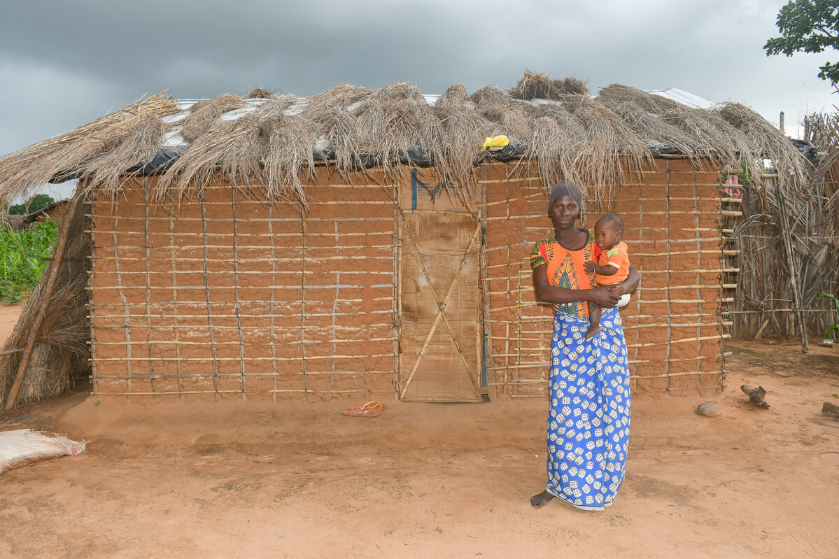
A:
MULTIPOLYGON (((626 172, 610 207, 589 207, 587 225, 618 212, 641 285, 621 311, 634 394, 717 392, 723 383, 720 175, 682 158, 626 172)), ((493 397, 545 394, 553 318, 535 302, 533 243, 553 235, 539 179, 512 165, 487 166, 485 332, 493 397), (512 176, 511 180, 507 180, 512 176), (494 393, 494 394, 493 394, 494 393)))

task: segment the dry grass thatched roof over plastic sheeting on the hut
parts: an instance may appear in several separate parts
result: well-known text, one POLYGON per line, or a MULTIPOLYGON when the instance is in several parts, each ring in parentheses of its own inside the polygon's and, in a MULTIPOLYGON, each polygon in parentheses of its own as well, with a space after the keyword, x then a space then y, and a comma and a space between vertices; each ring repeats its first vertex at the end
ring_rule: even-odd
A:
POLYGON ((498 134, 511 145, 492 156, 524 157, 539 165, 546 186, 562 176, 597 199, 620 184, 627 163, 642 169, 657 153, 721 165, 769 158, 793 185, 807 169, 789 139, 743 105, 687 107, 621 85, 591 97, 586 81, 526 72, 509 91, 484 86, 472 95, 455 84, 428 96, 404 82, 336 86, 313 97, 260 89, 196 102, 159 94, 0 159, 0 197, 69 178, 113 195, 127 174, 155 173, 159 196, 200 190, 221 175, 305 203, 303 180, 319 165, 341 173, 435 165, 443 180, 466 186, 488 156, 484 139, 498 134))

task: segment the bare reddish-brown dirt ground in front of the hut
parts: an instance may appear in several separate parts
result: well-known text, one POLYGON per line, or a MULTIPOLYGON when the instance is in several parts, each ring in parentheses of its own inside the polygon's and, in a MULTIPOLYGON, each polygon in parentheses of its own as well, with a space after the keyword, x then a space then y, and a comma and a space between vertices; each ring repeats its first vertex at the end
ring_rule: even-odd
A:
POLYGON ((0 557, 839 557, 839 420, 820 415, 839 348, 731 347, 720 417, 699 396, 633 402, 604 512, 529 506, 546 400, 349 418, 350 400, 147 406, 81 387, 0 414, 91 441, 2 475, 0 557))

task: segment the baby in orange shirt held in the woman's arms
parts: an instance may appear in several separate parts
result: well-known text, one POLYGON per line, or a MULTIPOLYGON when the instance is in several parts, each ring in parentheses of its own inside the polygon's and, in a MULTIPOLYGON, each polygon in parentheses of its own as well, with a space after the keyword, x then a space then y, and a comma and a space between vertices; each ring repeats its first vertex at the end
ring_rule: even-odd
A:
MULTIPOLYGON (((615 285, 627 279, 629 274, 629 256, 626 243, 621 242, 623 236, 623 219, 617 213, 607 213, 597 220, 594 225, 594 242, 600 247, 601 253, 595 257, 597 262, 586 262, 586 272, 595 274, 599 285, 615 285)), ((618 306, 629 302, 629 295, 621 296, 618 306)), ((602 307, 588 303, 588 330, 586 339, 591 339, 600 332, 600 316, 602 307)))

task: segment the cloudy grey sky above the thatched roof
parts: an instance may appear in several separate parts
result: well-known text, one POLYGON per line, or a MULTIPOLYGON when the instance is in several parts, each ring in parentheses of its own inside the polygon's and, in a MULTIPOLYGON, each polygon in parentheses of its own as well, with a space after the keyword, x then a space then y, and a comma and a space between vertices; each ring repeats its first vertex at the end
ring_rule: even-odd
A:
MULTIPOLYGON (((409 81, 506 88, 524 70, 743 102, 786 133, 839 96, 835 51, 766 56, 785 0, 3 0, 0 157, 138 98, 314 95, 409 81)), ((52 191, 69 196, 70 187, 52 191)))

